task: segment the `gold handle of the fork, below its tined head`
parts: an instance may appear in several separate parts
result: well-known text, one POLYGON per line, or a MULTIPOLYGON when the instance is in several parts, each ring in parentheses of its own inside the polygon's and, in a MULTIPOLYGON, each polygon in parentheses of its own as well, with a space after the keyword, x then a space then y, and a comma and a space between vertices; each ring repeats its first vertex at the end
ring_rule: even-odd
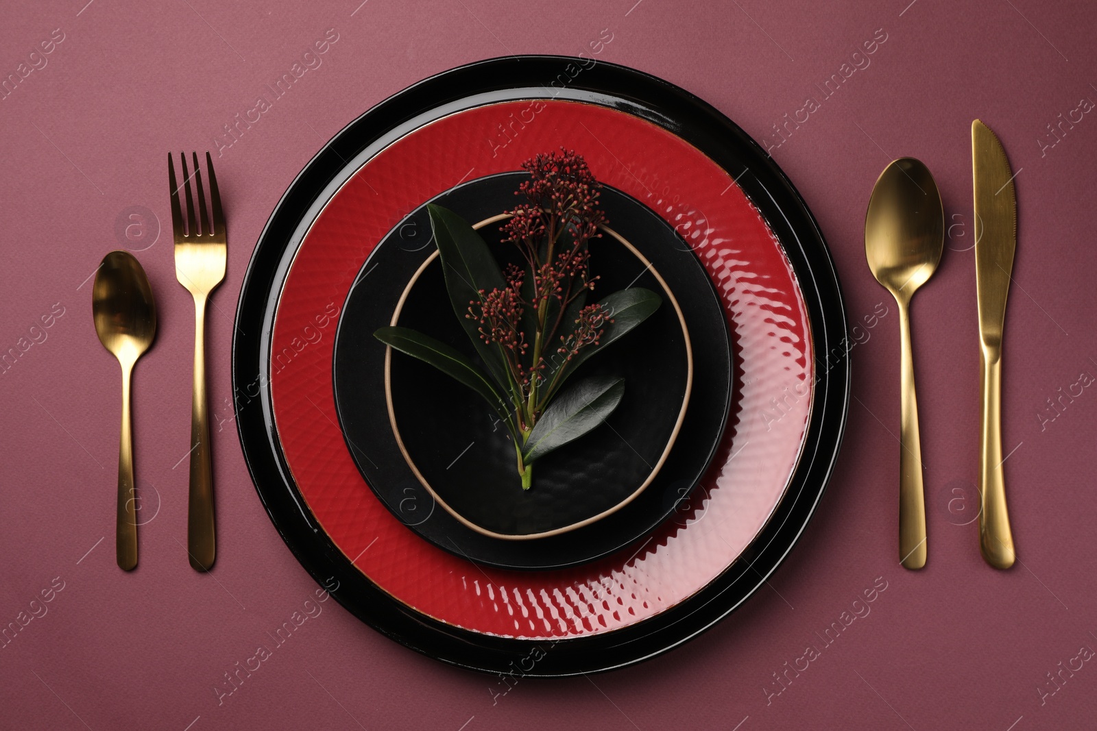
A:
POLYGON ((191 568, 208 571, 216 556, 213 519, 213 467, 205 392, 205 295, 194 296, 194 396, 191 400, 191 481, 186 514, 186 552, 191 568))

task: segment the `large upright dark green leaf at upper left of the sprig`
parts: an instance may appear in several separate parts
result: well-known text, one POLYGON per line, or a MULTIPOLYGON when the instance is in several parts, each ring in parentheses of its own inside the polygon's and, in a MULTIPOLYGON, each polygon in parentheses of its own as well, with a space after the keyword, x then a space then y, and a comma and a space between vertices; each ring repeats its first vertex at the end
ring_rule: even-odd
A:
POLYGON ((473 341, 488 370, 500 386, 509 388, 511 376, 500 346, 480 339, 479 323, 465 317, 468 302, 482 301, 480 290, 491 292, 507 286, 499 264, 487 243, 468 222, 449 208, 428 204, 430 225, 442 259, 445 289, 450 295, 453 313, 461 321, 468 339, 473 341))

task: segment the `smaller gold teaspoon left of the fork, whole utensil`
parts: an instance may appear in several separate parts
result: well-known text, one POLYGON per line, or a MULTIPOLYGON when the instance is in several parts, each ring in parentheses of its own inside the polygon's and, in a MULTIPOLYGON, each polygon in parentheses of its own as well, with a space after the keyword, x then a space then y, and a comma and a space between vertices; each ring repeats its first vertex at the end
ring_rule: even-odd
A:
POLYGON ((95 272, 91 290, 95 332, 103 347, 122 365, 122 439, 118 447, 118 521, 115 538, 118 567, 137 566, 137 519, 134 506, 134 453, 129 432, 129 376, 134 363, 156 335, 156 300, 145 270, 125 251, 112 251, 95 272))

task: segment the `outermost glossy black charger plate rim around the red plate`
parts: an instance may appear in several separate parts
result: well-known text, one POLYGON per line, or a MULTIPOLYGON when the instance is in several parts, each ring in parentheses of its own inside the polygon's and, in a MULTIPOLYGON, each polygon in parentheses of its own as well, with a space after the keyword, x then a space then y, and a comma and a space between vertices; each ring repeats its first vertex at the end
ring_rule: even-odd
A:
POLYGON ((769 523, 734 564, 686 602, 638 625, 552 643, 552 652, 525 675, 575 675, 633 664, 695 637, 738 607, 781 563, 814 513, 837 458, 849 406, 847 327, 834 263, 806 205, 773 160, 711 105, 633 69, 597 62, 568 87, 551 88, 574 62, 555 56, 478 61, 421 81, 348 125, 302 171, 263 229, 240 293, 241 327, 234 332, 234 397, 244 454, 263 506, 297 560, 332 587, 344 607, 386 637, 443 662, 491 673, 511 672, 511 663, 521 663, 531 648, 550 643, 462 630, 394 601, 351 566, 316 524, 279 447, 267 377, 274 306, 307 224, 352 172, 346 170, 347 160, 370 155, 429 118, 486 102, 555 96, 610 105, 671 129, 737 176, 799 278, 811 320, 816 381, 801 460, 769 523))

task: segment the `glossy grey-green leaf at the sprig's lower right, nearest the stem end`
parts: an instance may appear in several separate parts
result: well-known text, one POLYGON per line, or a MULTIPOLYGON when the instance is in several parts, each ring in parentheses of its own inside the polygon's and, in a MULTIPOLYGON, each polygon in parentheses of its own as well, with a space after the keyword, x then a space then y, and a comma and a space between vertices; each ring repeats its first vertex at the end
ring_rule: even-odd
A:
POLYGON ((538 419, 522 450, 532 462, 595 429, 617 409, 624 396, 624 378, 595 376, 556 397, 538 419))

